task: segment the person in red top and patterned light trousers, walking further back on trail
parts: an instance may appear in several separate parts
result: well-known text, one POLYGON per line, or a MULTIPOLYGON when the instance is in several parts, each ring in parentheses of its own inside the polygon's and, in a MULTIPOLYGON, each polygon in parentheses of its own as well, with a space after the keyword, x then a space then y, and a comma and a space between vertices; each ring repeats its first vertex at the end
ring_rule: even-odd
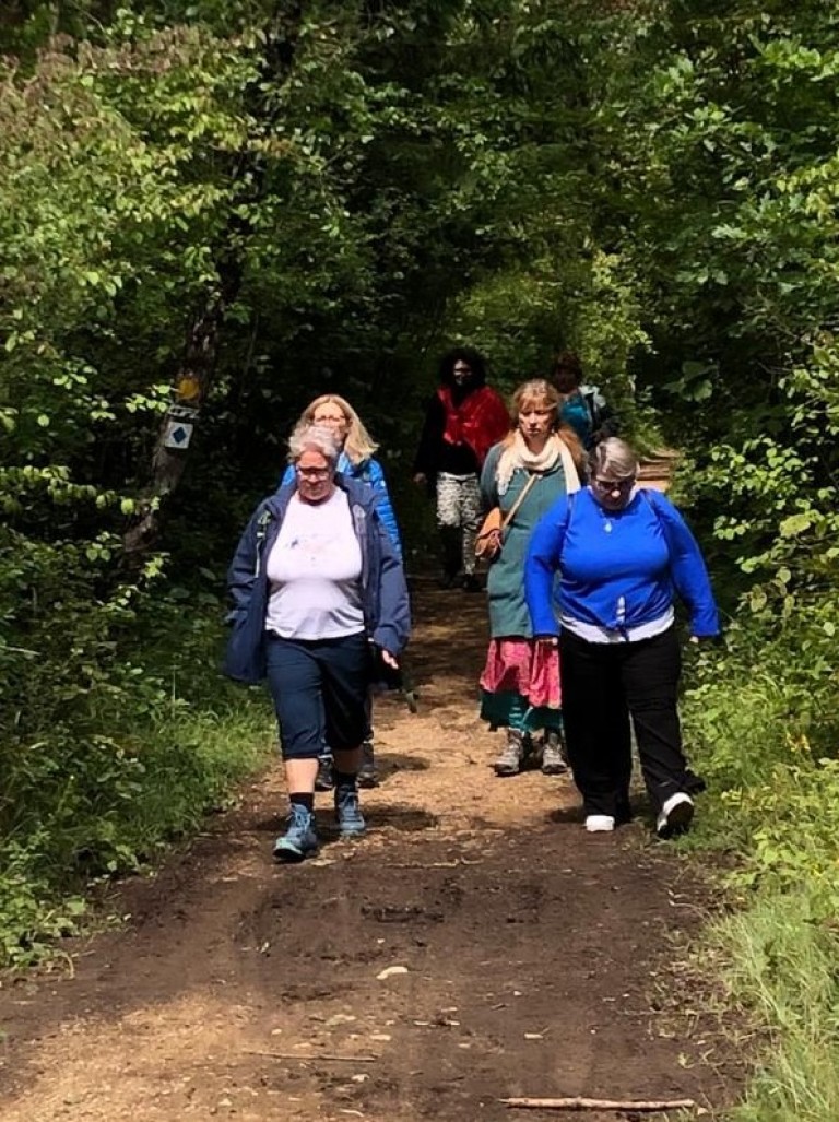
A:
POLYGON ((510 426, 507 406, 487 385, 483 357, 455 347, 440 362, 440 387, 425 411, 414 481, 436 495, 443 588, 481 590, 474 543, 481 525, 480 471, 510 426), (462 578, 461 578, 462 573, 462 578))

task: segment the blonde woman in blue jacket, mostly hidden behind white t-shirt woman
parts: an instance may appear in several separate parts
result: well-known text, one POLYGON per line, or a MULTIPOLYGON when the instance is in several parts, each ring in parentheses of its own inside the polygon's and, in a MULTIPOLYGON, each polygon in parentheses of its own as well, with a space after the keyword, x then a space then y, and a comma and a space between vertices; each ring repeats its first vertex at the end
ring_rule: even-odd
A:
MULTIPOLYGON (((338 458, 338 470, 341 475, 372 488, 381 524, 393 542, 396 555, 402 560, 399 527, 388 494, 385 472, 381 470, 379 461, 374 459, 374 452, 376 452, 378 444, 370 436, 361 417, 343 397, 339 397, 338 394, 322 394, 305 407, 295 431, 312 424, 330 429, 334 434, 341 449, 341 454, 338 458)), ((280 479, 280 487, 288 486, 291 482, 294 482, 294 469, 289 466, 280 479)), ((372 698, 370 698, 368 701, 367 736, 361 745, 358 785, 377 787, 378 782, 379 776, 372 744, 372 698)), ((332 753, 329 746, 324 746, 321 754, 315 785, 319 791, 328 791, 333 785, 332 753)))

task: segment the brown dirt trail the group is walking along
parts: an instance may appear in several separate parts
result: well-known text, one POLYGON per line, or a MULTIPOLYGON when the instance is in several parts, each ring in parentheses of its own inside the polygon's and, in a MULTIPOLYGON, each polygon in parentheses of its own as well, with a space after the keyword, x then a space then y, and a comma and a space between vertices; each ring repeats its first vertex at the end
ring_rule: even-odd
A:
POLYGON ((422 582, 415 609, 421 708, 377 707, 368 838, 335 840, 322 795, 321 856, 275 868, 279 770, 253 784, 121 889, 130 918, 73 945, 74 977, 0 991, 3 1122, 544 1122, 564 1115, 498 1100, 736 1095, 671 966, 701 922, 688 865, 643 806, 590 836, 569 780, 496 779, 483 598, 422 582))

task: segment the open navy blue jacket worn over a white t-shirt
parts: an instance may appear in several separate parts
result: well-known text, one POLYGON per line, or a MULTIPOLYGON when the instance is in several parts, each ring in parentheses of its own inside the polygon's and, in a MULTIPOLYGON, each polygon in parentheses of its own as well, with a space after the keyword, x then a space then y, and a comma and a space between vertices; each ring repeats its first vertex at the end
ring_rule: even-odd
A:
MULTIPOLYGON (((368 638, 377 647, 399 654, 411 634, 411 609, 405 572, 385 530, 375 493, 340 472, 335 482, 347 493, 352 525, 361 546, 361 603, 368 638)), ((277 540, 296 482, 280 487, 253 512, 239 540, 228 571, 233 600, 229 622, 224 673, 240 682, 265 678, 265 618, 269 587, 266 560, 277 540)))

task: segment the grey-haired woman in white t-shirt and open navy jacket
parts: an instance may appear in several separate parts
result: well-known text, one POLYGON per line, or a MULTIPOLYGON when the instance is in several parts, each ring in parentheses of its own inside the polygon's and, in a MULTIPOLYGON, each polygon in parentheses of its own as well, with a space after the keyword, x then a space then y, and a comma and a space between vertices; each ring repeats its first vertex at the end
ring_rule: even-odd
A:
POLYGON ((358 774, 376 666, 398 669, 409 633, 405 574, 374 491, 336 476, 340 445, 325 426, 295 431, 294 479, 257 508, 230 570, 236 608, 227 672, 267 678, 279 721, 291 809, 274 856, 317 848, 314 787, 324 743, 335 761, 343 837, 363 833, 358 774))

